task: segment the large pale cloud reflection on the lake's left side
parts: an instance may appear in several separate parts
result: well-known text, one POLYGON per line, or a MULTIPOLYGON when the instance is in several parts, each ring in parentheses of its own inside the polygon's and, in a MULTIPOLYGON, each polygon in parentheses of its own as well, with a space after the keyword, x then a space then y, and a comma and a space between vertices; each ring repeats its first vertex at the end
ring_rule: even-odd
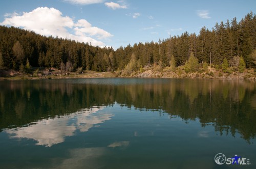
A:
POLYGON ((86 132, 95 124, 110 120, 112 114, 97 112, 103 108, 104 106, 91 107, 71 115, 45 119, 28 127, 8 129, 5 132, 10 134, 11 138, 30 138, 37 141, 36 145, 51 147, 64 142, 66 136, 74 135, 75 130, 86 132))

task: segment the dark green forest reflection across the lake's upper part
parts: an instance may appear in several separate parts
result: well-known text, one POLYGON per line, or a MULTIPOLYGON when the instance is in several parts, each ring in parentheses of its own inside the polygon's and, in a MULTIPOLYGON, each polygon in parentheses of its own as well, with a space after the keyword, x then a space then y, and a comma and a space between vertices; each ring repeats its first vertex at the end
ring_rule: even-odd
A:
POLYGON ((94 106, 155 110, 199 120, 220 134, 256 135, 254 81, 210 79, 62 79, 0 81, 0 131, 94 106), (118 81, 118 82, 117 82, 118 81))

